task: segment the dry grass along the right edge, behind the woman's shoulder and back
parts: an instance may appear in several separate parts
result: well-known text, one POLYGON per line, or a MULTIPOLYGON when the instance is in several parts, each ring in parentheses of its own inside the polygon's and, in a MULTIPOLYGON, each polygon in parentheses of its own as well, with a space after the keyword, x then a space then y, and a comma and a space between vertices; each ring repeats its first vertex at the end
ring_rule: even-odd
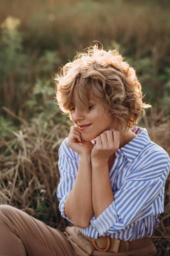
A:
MULTIPOLYGON (((147 128, 150 139, 170 155, 170 116, 165 117, 163 112, 155 115, 151 111, 141 123, 147 128)), ((170 256, 170 175, 167 177, 164 195, 164 213, 159 216, 159 227, 153 231, 152 236, 158 256, 170 256)))

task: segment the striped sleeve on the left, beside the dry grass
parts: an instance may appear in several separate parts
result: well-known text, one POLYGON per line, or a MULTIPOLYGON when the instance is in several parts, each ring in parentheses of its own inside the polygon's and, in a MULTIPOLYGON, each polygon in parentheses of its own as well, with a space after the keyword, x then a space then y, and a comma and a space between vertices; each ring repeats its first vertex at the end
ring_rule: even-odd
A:
POLYGON ((66 218, 71 223, 72 220, 65 215, 65 201, 71 192, 71 189, 74 186, 78 163, 74 157, 68 151, 68 148, 63 141, 62 145, 59 148, 59 160, 58 168, 60 174, 59 184, 57 186, 57 198, 59 199, 59 210, 62 217, 66 218))

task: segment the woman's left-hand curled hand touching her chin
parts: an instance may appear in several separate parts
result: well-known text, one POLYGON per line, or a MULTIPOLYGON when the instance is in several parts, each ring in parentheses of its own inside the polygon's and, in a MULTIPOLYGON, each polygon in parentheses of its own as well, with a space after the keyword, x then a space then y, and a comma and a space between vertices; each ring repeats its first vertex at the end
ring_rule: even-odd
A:
POLYGON ((93 143, 83 140, 82 134, 76 126, 71 126, 66 145, 76 151, 80 156, 90 155, 93 149, 93 143))

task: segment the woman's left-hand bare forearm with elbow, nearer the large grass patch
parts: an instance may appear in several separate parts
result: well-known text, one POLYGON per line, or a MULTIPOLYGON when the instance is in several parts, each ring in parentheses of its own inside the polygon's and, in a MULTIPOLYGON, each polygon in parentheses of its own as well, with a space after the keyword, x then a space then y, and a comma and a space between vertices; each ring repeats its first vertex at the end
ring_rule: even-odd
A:
POLYGON ((91 191, 91 157, 79 158, 79 169, 73 189, 65 201, 65 215, 77 227, 85 228, 94 216, 91 191))

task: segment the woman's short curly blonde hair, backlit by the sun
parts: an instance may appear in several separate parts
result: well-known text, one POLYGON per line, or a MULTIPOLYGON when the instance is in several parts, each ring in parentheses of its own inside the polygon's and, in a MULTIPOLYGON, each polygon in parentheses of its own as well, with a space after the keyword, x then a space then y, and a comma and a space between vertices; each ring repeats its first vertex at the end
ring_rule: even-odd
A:
POLYGON ((100 114, 106 116, 102 108, 106 106, 107 114, 118 119, 122 133, 133 128, 141 112, 151 105, 142 102, 142 87, 136 72, 123 59, 116 49, 107 51, 98 44, 77 53, 54 79, 57 104, 62 112, 71 119, 74 93, 77 107, 88 112, 91 92, 94 100, 101 102, 100 114))

